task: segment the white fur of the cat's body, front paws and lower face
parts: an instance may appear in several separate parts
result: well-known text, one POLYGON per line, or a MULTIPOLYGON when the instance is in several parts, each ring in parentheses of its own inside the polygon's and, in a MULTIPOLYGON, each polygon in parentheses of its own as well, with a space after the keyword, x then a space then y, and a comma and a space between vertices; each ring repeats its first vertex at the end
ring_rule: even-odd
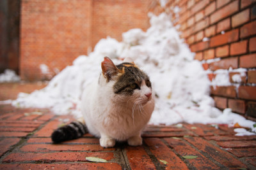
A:
POLYGON ((124 96, 113 92, 114 84, 115 78, 107 82, 101 74, 84 90, 82 113, 88 131, 100 138, 102 147, 113 147, 115 141, 141 145, 141 131, 154 110, 154 92, 143 81, 140 90, 124 96), (149 93, 151 97, 145 96, 149 93))

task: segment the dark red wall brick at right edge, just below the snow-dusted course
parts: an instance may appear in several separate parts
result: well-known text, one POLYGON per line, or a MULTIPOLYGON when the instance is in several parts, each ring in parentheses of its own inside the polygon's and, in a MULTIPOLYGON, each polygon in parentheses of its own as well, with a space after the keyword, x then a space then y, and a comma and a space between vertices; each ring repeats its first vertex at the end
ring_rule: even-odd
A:
POLYGON ((241 99, 256 100, 256 87, 240 86, 238 88, 238 97, 241 99))

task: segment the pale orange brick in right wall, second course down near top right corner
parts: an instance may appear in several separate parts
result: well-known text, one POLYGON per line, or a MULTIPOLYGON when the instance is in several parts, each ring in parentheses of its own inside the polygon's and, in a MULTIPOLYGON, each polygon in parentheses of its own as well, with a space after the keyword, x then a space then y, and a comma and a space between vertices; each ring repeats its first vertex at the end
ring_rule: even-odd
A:
POLYGON ((232 27, 237 27, 250 20, 250 10, 244 10, 232 17, 232 27))

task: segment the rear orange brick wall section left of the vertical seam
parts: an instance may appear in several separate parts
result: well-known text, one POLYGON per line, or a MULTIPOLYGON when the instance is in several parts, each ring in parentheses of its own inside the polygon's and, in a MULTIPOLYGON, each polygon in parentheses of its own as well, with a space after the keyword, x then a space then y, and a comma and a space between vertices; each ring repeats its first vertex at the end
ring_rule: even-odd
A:
POLYGON ((21 4, 20 76, 41 80, 40 64, 51 71, 72 64, 90 46, 90 0, 23 0, 21 4))

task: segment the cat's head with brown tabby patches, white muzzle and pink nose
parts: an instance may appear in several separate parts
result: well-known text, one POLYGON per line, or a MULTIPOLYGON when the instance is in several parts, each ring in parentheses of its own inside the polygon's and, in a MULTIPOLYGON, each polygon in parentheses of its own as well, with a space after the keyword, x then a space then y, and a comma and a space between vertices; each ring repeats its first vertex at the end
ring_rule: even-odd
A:
POLYGON ((107 82, 112 82, 113 92, 118 100, 146 104, 152 99, 151 82, 131 59, 116 65, 108 57, 101 63, 102 74, 107 82))

